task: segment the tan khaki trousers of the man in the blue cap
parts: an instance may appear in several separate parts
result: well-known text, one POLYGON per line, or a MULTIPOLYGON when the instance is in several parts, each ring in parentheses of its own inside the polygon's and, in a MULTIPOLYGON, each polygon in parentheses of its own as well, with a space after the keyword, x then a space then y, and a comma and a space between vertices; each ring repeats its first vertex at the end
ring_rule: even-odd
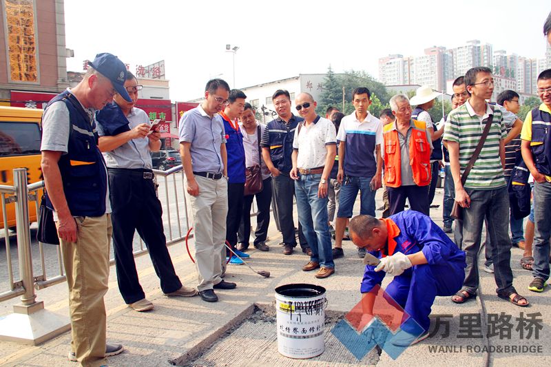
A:
POLYGON ((69 286, 71 350, 81 366, 105 361, 105 304, 109 280, 111 215, 76 217, 77 240, 61 240, 61 253, 69 286))

